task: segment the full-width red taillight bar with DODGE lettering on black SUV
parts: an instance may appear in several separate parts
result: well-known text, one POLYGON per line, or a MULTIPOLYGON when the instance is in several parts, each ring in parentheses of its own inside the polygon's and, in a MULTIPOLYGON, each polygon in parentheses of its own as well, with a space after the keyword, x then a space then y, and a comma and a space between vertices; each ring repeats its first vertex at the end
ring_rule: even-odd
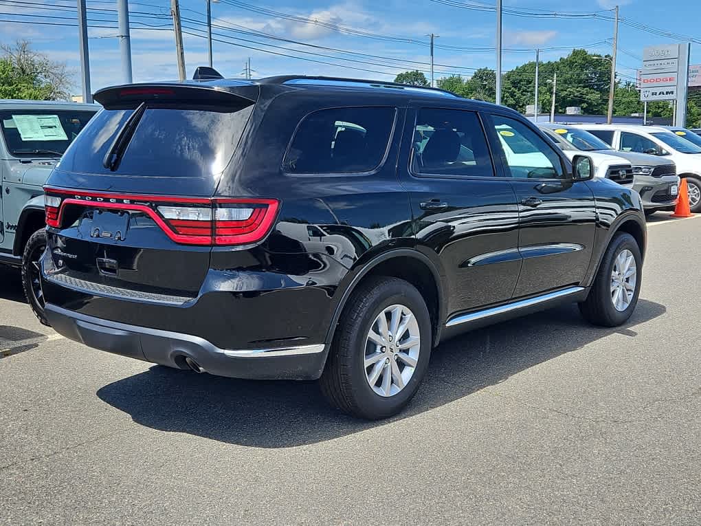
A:
POLYGON ((93 194, 46 188, 46 224, 60 228, 64 208, 132 210, 151 217, 176 243, 247 245, 261 241, 278 214, 276 199, 178 198, 93 194))

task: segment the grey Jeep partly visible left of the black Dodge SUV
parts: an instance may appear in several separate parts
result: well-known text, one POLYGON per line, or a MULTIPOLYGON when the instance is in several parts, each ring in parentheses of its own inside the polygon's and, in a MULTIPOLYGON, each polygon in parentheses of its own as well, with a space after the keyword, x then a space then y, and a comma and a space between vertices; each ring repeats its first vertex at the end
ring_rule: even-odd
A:
POLYGON ((39 256, 46 247, 43 184, 97 104, 0 100, 0 264, 22 268, 27 301, 41 323, 39 256))

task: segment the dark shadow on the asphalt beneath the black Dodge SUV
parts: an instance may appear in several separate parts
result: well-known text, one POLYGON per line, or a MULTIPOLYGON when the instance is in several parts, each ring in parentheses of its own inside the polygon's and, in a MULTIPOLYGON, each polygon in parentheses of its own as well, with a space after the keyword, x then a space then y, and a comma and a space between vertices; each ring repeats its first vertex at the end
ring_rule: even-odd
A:
POLYGON ((450 403, 613 332, 633 338, 636 325, 665 311, 641 299, 627 325, 602 329, 588 325, 572 305, 457 337, 433 352, 424 384, 407 410, 381 422, 333 410, 316 382, 228 379, 161 366, 104 386, 97 396, 153 429, 253 447, 294 447, 450 403))

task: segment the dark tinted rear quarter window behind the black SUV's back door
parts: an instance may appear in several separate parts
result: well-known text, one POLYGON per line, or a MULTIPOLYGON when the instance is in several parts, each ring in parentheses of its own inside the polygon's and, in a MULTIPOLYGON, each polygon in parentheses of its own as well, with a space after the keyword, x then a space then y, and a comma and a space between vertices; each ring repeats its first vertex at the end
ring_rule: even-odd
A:
POLYGON ((380 166, 395 109, 333 108, 306 116, 294 133, 283 168, 288 173, 362 173, 380 166))

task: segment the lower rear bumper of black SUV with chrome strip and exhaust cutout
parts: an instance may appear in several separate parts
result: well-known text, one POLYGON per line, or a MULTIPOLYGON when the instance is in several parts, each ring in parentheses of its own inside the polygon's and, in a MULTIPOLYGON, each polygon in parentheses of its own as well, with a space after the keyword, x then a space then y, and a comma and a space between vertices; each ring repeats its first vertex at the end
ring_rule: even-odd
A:
POLYGON ((188 369, 191 358, 205 372, 224 377, 317 379, 327 355, 324 344, 219 349, 197 336, 106 321, 53 304, 46 304, 46 318, 60 335, 101 351, 178 369, 188 369))

